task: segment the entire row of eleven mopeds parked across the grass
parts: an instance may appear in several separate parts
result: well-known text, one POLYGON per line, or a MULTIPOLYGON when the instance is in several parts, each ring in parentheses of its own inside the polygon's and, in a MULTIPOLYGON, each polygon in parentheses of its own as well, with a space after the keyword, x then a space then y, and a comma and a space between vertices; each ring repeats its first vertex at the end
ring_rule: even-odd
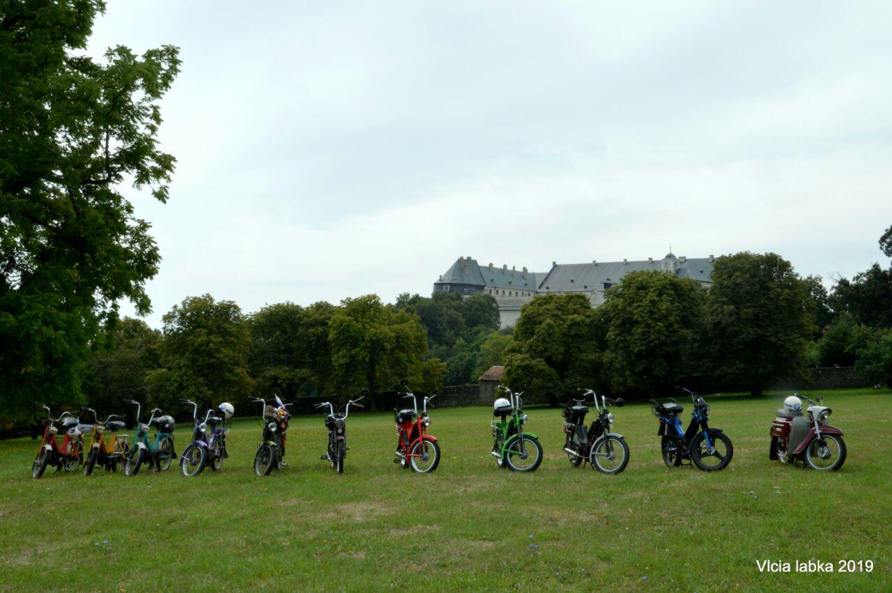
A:
MULTIPOLYGON (((393 461, 418 474, 429 474, 437 468, 441 458, 439 441, 427 433, 431 425, 427 408, 433 408, 431 400, 437 394, 423 397, 419 410, 417 396, 405 382, 403 387, 406 391, 400 395, 403 399, 412 400, 412 408, 394 410, 397 448, 393 461)), ((493 404, 493 416, 499 416, 499 419, 491 421, 491 454, 500 467, 516 472, 534 472, 541 465, 543 451, 539 437, 524 429, 528 416, 524 414, 523 391, 514 392, 504 386, 500 386, 499 390, 503 397, 493 404)), ((572 399, 564 404, 564 452, 567 459, 573 466, 588 463, 603 474, 619 474, 629 463, 629 446, 622 434, 612 432, 615 416, 607 408, 622 408, 623 399, 599 396, 592 390, 580 391, 582 399, 572 399), (586 426, 585 417, 590 411, 588 403, 593 404, 597 417, 586 426)), ((693 404, 687 428, 680 418, 683 407, 675 399, 650 400, 654 416, 657 416, 657 436, 661 438, 665 464, 670 467, 693 464, 706 472, 724 469, 731 463, 734 454, 731 439, 722 429, 709 426, 711 408, 706 399, 686 389, 681 391, 690 396, 693 404)), ((363 390, 358 399, 351 399, 343 406, 330 401, 316 406, 324 411, 328 432, 326 454, 321 459, 327 461, 338 474, 343 474, 344 459, 349 450, 346 420, 350 408, 362 408, 359 401, 367 394, 368 390, 363 390)), ((253 469, 255 474, 264 476, 287 465, 285 441, 291 417, 288 408, 293 404, 285 404, 278 397, 269 401, 260 398, 252 401, 260 404, 263 431, 253 469)), ((71 473, 81 465, 84 475, 92 474, 97 465, 112 472, 117 470, 118 465, 123 465, 124 474, 132 476, 145 465, 157 471, 166 471, 177 458, 180 473, 186 477, 197 476, 206 467, 218 471, 228 457, 227 421, 235 413, 235 408, 232 404, 222 403, 200 416, 194 401, 180 399, 180 402, 192 408, 194 430, 192 441, 179 457, 174 449, 174 419, 160 408, 154 408, 144 423, 141 421, 142 405, 133 399, 124 400, 124 403, 136 407, 136 434, 131 445, 128 435, 119 433, 125 428, 123 416, 111 415, 100 421, 94 409, 81 408, 79 416, 63 412, 62 416, 54 418, 49 407, 37 404, 46 410, 47 425, 31 476, 39 478, 48 466, 54 466, 57 472, 71 473), (93 424, 83 422, 88 421, 90 416, 93 424), (61 443, 56 439, 60 428, 64 435, 61 443), (152 428, 155 432, 150 439, 152 428), (107 438, 106 432, 111 434, 111 438, 107 438), (85 461, 84 434, 87 433, 90 436, 85 461)), ((838 470, 846 461, 847 449, 842 439, 843 432, 828 423, 831 412, 820 397, 814 401, 800 394, 789 396, 772 422, 769 458, 790 464, 801 461, 816 470, 838 470), (805 409, 803 399, 809 404, 805 409)))

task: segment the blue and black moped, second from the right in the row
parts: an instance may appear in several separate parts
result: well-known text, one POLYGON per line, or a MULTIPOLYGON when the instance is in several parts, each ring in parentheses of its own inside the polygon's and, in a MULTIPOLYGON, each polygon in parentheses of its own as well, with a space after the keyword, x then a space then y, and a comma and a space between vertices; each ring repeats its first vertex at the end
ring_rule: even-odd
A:
POLYGON ((721 428, 709 428, 709 404, 693 391, 681 388, 690 395, 694 404, 688 429, 683 430, 678 417, 684 408, 673 398, 651 399, 654 416, 660 422, 657 435, 662 437, 660 445, 663 461, 670 467, 693 461, 704 472, 717 472, 731 463, 734 448, 731 439, 721 428), (661 403, 662 402, 662 403, 661 403))

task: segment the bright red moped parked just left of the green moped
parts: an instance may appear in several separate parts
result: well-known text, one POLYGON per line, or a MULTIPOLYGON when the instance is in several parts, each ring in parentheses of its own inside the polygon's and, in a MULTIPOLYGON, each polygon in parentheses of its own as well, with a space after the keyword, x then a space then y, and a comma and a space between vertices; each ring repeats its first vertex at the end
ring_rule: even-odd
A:
MULTIPOLYGON (((411 467, 418 474, 430 474, 437 465, 440 465, 440 443, 437 438, 427 433, 427 427, 431 425, 431 418, 427 416, 427 406, 431 399, 439 394, 422 399, 421 413, 418 413, 418 400, 415 394, 409 390, 409 384, 403 382, 405 392, 401 392, 402 399, 412 399, 412 408, 401 409, 394 412, 396 422, 397 444, 393 463, 403 467, 411 467)), ((434 408, 431 405, 431 408, 434 408)))

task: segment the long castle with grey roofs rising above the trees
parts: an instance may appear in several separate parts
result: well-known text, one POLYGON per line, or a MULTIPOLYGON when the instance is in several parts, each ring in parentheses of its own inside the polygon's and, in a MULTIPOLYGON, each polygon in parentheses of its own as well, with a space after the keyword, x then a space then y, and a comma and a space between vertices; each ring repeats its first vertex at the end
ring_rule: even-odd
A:
POLYGON ((712 284, 714 256, 708 258, 675 257, 672 252, 663 259, 630 261, 597 261, 584 264, 551 262, 548 272, 530 272, 507 265, 500 268, 489 264, 480 266, 476 259, 459 257, 434 282, 434 292, 460 292, 470 296, 477 292, 491 294, 499 303, 502 327, 515 325, 520 308, 540 294, 578 292, 589 297, 592 307, 604 302, 604 293, 632 271, 660 271, 684 278, 693 278, 704 286, 712 284))

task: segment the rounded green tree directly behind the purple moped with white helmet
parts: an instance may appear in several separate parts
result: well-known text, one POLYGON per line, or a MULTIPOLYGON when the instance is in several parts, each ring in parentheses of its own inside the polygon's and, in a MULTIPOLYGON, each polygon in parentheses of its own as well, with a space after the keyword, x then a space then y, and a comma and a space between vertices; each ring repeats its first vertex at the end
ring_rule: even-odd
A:
POLYGON ((246 405, 252 339, 238 305, 204 294, 175 305, 163 319, 162 367, 149 374, 152 404, 175 409, 186 398, 201 408, 246 405))

